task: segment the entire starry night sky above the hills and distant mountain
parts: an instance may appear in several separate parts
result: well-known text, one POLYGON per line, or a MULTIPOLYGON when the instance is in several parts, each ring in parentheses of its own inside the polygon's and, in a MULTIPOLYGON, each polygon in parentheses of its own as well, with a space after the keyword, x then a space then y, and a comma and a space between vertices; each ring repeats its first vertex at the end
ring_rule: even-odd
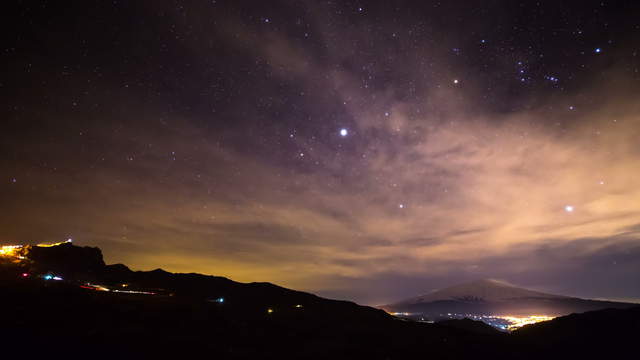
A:
POLYGON ((640 299, 637 1, 11 1, 0 242, 382 304, 640 299))

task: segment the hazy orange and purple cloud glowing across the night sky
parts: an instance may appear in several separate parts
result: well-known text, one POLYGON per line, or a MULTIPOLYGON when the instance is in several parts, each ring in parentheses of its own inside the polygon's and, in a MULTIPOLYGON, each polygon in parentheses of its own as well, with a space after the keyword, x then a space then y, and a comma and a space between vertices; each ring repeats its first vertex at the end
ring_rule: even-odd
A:
POLYGON ((22 161, 8 172, 29 177, 3 204, 7 240, 73 236, 135 269, 373 303, 477 277, 585 294, 586 277, 636 280, 640 112, 620 100, 628 90, 617 68, 582 94, 540 92, 497 111, 490 104, 504 98, 490 98, 475 68, 451 54, 455 36, 414 46, 390 24, 328 26, 332 16, 308 12, 313 25, 302 30, 237 14, 215 26, 178 22, 216 39, 180 43, 181 61, 197 68, 188 86, 209 94, 220 85, 196 61, 216 57, 255 80, 217 74, 231 79, 228 107, 203 100, 200 111, 168 111, 142 101, 143 90, 102 97, 114 87, 104 82, 86 99, 104 111, 70 115, 92 119, 81 131, 64 116, 47 120, 56 138, 91 141, 36 146, 46 139, 34 133, 34 146, 16 146, 22 161))

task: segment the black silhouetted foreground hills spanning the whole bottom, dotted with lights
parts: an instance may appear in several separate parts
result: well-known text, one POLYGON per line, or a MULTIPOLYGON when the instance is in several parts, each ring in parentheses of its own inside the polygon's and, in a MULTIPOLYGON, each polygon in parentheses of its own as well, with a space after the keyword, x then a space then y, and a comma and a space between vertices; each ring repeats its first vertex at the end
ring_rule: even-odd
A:
POLYGON ((468 321, 403 321, 267 283, 131 271, 105 265, 95 248, 28 252, 0 266, 3 354, 25 359, 584 357, 635 351, 640 330, 634 308, 492 333, 468 321))

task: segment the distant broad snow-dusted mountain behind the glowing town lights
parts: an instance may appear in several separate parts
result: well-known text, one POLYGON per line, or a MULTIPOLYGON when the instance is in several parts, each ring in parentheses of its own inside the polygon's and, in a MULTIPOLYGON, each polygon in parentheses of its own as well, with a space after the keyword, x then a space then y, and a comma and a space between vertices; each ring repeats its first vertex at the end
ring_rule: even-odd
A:
POLYGON ((478 280, 433 291, 381 308, 389 312, 441 318, 449 313, 478 315, 561 316, 637 304, 586 300, 518 288, 498 280, 478 280))

